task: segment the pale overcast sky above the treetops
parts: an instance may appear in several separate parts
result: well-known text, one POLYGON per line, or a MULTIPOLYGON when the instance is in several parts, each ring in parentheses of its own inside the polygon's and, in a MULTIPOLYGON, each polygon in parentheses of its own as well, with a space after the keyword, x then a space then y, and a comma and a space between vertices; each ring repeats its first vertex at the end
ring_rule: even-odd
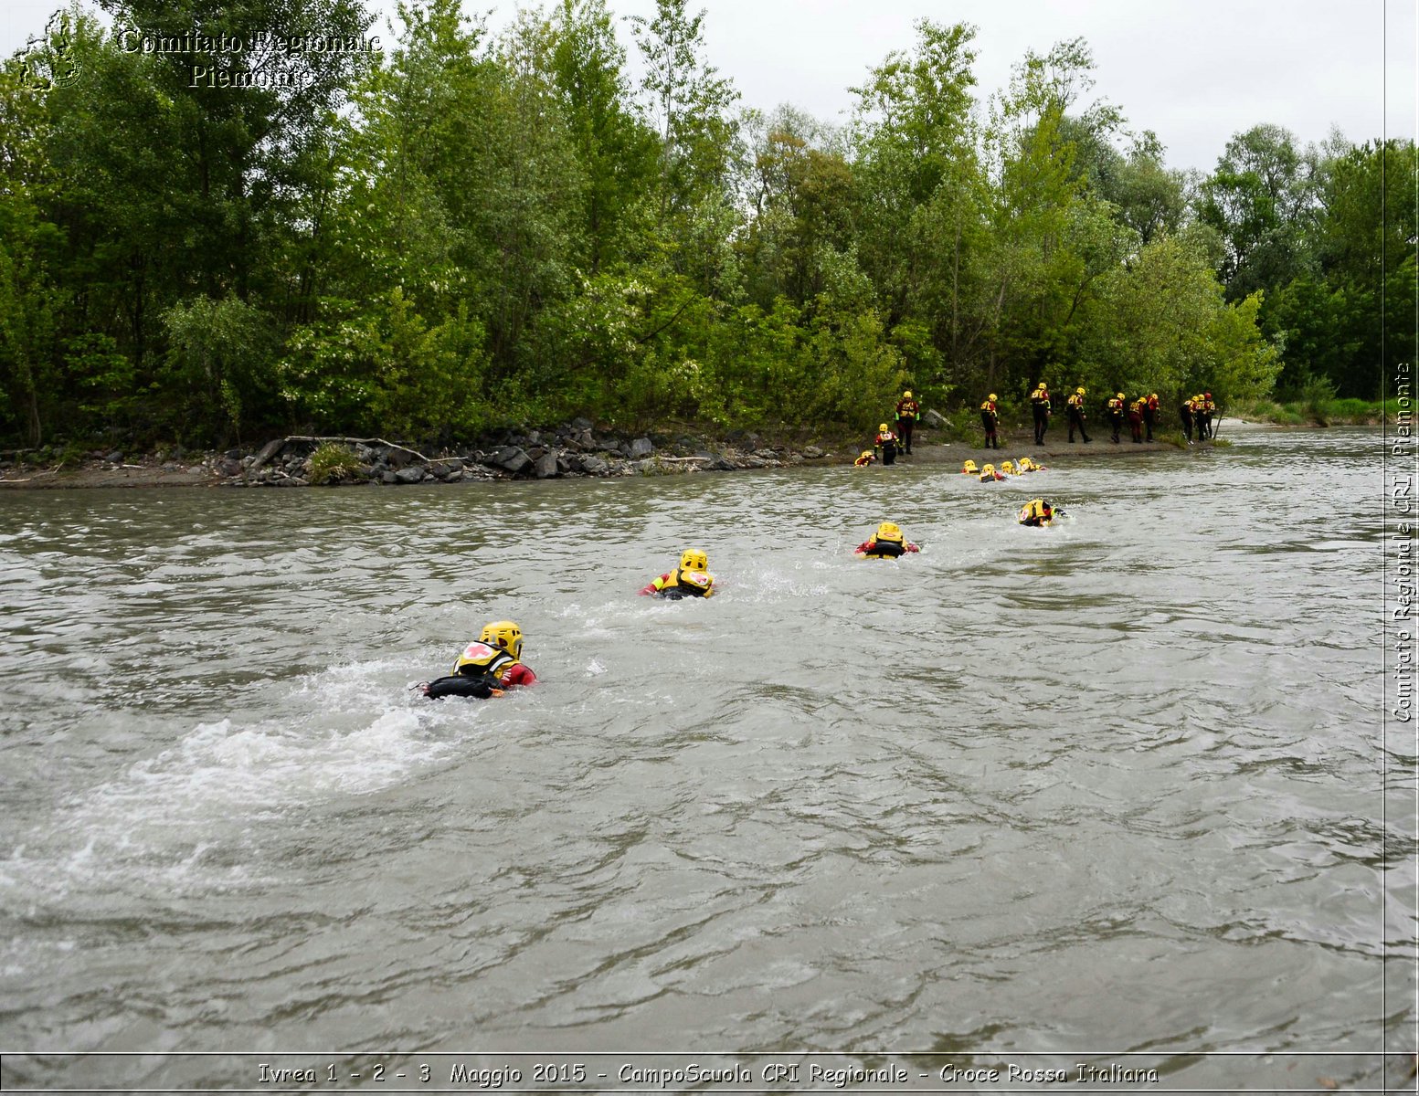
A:
MULTIPOLYGON (((610 0, 619 16, 653 14, 654 0, 610 0)), ((1210 172, 1227 139, 1261 122, 1301 143, 1332 126, 1351 140, 1416 136, 1416 0, 701 0, 711 64, 742 105, 779 104, 829 122, 851 108, 849 86, 893 50, 912 23, 972 23, 983 99, 1005 86, 1026 50, 1083 37, 1095 61, 1094 95, 1132 129, 1152 129, 1174 167, 1210 172), (1388 94, 1386 94, 1388 92, 1388 94)), ((691 10, 698 7, 691 0, 691 10)), ((0 50, 38 34, 55 0, 0 4, 0 50)), ((372 4, 393 10, 393 0, 372 4)), ((514 3, 464 0, 505 24, 514 3)), ((380 14, 373 33, 383 33, 380 14)), ((278 30, 278 28, 272 28, 278 30)), ((617 27, 634 55, 630 27, 617 27)))

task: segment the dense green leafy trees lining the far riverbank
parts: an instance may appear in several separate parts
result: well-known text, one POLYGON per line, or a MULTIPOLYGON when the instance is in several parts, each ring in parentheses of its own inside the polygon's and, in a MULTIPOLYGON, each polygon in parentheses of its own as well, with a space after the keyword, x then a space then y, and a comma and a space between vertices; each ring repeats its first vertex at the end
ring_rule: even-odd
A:
POLYGON ((1372 398, 1413 360, 1412 142, 1263 123, 1171 170, 1083 40, 983 96, 973 28, 922 20, 834 126, 745 108, 687 0, 105 7, 0 72, 14 444, 1372 398))

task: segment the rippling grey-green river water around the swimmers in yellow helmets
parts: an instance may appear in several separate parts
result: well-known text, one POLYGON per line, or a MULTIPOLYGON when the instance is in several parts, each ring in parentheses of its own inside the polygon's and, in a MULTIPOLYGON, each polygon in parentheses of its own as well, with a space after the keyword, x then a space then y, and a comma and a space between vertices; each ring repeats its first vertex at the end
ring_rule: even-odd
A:
POLYGON ((996 485, 0 496, 4 1086, 255 1087, 275 1052, 1378 1078, 1416 1019, 1381 437, 1233 437, 996 485), (1030 493, 1073 522, 1017 526, 1030 493), (856 561, 883 519, 922 553, 856 561), (718 597, 634 595, 691 546, 718 597), (409 692, 501 617, 536 689, 409 692))

